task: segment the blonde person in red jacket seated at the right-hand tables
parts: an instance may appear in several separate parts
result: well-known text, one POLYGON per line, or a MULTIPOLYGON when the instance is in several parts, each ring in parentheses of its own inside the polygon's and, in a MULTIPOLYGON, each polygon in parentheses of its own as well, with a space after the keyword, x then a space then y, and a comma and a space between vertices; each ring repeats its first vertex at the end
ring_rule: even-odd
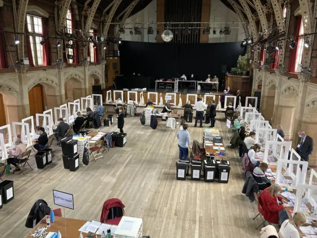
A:
POLYGON ((263 217, 265 221, 273 224, 282 224, 288 218, 287 213, 284 210, 284 207, 286 206, 284 203, 287 202, 281 196, 278 196, 281 190, 282 189, 278 184, 273 184, 265 188, 260 194, 263 217), (281 202, 282 205, 279 205, 278 201, 281 202))

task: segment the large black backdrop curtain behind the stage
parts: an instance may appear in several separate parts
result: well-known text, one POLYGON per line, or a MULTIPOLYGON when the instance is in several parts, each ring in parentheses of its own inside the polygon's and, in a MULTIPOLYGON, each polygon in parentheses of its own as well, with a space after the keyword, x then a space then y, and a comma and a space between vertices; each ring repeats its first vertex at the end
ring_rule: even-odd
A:
POLYGON ((236 67, 239 55, 246 48, 241 42, 205 44, 165 44, 123 41, 119 45, 120 73, 126 76, 140 73, 154 76, 155 80, 188 77, 194 73, 196 80, 205 80, 208 74, 221 77, 221 65, 226 70, 236 67))

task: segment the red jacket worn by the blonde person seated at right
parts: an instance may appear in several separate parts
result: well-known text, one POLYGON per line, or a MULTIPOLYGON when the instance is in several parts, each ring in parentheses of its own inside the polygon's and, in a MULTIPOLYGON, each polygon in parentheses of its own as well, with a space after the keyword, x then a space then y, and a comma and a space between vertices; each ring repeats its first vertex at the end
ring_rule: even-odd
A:
POLYGON ((260 194, 260 204, 263 208, 263 217, 265 221, 273 224, 278 224, 278 212, 283 210, 283 205, 278 205, 278 201, 282 201, 281 196, 272 196, 268 192, 268 188, 265 188, 260 194))

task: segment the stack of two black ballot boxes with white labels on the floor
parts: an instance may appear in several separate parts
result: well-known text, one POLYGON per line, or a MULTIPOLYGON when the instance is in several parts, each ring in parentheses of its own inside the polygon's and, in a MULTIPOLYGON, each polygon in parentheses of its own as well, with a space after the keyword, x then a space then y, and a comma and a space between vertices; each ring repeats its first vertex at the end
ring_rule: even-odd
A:
POLYGON ((78 140, 65 137, 60 143, 64 168, 75 172, 79 168, 78 140))

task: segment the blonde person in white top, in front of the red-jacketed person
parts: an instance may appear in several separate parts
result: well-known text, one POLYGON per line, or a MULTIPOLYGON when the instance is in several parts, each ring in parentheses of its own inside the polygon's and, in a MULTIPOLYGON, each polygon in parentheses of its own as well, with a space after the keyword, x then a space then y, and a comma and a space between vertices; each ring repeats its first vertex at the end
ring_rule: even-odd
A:
POLYGON ((279 238, 299 238, 298 229, 306 224, 306 217, 301 212, 295 212, 292 220, 285 220, 278 232, 279 238))

